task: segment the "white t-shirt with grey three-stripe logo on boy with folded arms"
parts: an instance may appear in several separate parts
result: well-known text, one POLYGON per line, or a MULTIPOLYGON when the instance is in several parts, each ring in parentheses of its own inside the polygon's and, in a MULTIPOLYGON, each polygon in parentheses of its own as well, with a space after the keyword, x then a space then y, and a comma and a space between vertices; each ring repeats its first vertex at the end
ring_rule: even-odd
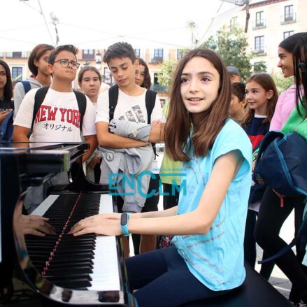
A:
MULTIPOLYGON (((119 89, 114 118, 116 120, 129 120, 131 122, 143 122, 147 124, 145 94, 146 90, 139 96, 129 96, 119 89)), ((162 120, 162 108, 158 96, 156 97, 155 107, 152 110, 150 120, 151 122, 154 120, 162 120)), ((108 91, 102 92, 99 95, 96 122, 109 122, 108 91)))

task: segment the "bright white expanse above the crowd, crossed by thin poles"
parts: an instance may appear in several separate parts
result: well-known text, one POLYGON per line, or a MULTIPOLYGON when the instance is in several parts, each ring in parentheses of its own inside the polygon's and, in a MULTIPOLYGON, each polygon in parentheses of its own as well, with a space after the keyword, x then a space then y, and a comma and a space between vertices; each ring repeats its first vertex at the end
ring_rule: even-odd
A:
POLYGON ((190 48, 192 29, 203 38, 216 15, 237 9, 219 0, 0 0, 0 5, 0 51, 55 45, 55 24, 58 45, 97 49, 128 41, 134 48, 190 48))

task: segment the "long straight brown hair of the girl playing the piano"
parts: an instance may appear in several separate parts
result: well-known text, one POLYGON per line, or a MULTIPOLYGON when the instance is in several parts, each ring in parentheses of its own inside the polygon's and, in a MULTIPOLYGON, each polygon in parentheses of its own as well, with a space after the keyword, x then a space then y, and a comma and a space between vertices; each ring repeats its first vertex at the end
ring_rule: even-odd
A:
POLYGON ((190 161, 189 148, 192 145, 196 157, 205 157, 228 117, 230 100, 231 85, 222 58, 208 49, 188 52, 178 63, 174 73, 169 113, 164 126, 166 155, 175 161, 190 161), (220 75, 218 95, 210 108, 203 112, 200 122, 193 122, 180 94, 181 74, 193 57, 208 59, 220 75))

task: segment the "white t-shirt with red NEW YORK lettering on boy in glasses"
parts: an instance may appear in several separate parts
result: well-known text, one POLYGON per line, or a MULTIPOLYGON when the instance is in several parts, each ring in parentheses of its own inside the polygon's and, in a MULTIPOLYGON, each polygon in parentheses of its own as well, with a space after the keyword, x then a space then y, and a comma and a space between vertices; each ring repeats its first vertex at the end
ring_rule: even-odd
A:
MULTIPOLYGON (((36 89, 29 91, 20 105, 14 125, 31 128, 36 89)), ((96 134, 95 110, 90 99, 83 117, 83 136, 96 134)), ((39 142, 81 142, 80 112, 74 92, 48 90, 34 121, 31 146, 46 145, 39 142)))

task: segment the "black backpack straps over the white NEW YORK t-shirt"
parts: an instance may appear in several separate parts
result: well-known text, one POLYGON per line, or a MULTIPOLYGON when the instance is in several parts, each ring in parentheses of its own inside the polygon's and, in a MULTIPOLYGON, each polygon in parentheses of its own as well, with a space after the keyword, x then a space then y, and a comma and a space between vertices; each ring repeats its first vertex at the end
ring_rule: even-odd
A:
MULTIPOLYGON (((35 117, 38 112, 38 109, 41 108, 41 104, 43 103, 48 90, 49 90, 48 86, 41 87, 40 89, 37 90, 35 94, 31 131, 33 129, 33 125, 34 125, 34 121, 35 121, 35 117)), ((75 90, 73 90, 73 92, 75 93, 76 99, 78 101, 78 108, 80 112, 80 132, 82 132, 83 117, 85 115, 85 110, 86 110, 86 97, 85 97, 85 94, 81 92, 78 92, 75 90)))

